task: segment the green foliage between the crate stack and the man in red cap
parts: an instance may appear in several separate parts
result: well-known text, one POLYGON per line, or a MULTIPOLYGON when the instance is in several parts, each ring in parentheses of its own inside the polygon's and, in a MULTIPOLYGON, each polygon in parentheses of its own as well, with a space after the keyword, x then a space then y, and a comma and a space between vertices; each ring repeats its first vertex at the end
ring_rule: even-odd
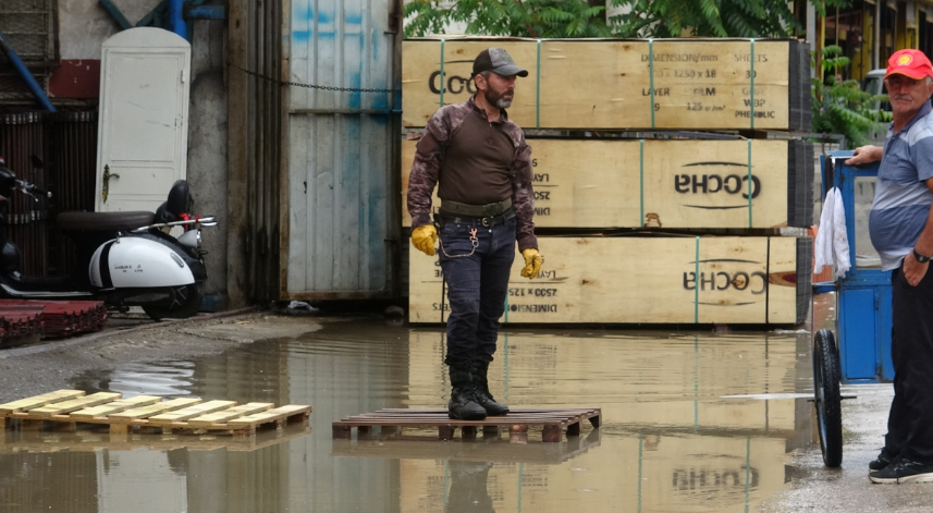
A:
MULTIPOLYGON (((822 63, 825 80, 812 80, 813 132, 844 135, 851 146, 869 144, 867 135, 892 120, 891 112, 877 108, 887 101, 887 95, 872 96, 859 88, 858 81, 837 80, 849 65, 849 58, 837 46, 823 48, 822 63)), ((827 138, 821 142, 825 145, 827 138)))

